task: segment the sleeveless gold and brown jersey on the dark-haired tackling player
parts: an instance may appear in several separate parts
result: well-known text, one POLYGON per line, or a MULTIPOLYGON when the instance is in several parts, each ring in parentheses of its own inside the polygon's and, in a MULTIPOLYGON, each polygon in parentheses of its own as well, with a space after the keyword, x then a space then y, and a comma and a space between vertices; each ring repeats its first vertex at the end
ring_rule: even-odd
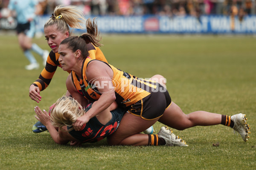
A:
MULTIPOLYGON (((82 77, 77 77, 74 71, 72 71, 72 80, 77 91, 85 98, 96 101, 101 96, 97 86, 87 80, 85 71, 87 65, 92 61, 87 57, 82 65, 82 77)), ((131 74, 121 71, 113 65, 106 63, 113 70, 113 88, 116 94, 116 102, 119 105, 128 107, 151 94, 151 92, 157 88, 157 82, 145 79, 138 79, 131 74)))

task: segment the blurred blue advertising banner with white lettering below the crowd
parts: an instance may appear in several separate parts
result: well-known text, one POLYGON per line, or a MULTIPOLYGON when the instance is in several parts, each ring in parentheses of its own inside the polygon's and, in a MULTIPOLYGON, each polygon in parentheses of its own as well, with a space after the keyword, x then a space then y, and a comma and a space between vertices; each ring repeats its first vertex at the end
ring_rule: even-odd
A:
MULTIPOLYGON (((38 17, 37 29, 44 29, 50 16, 38 17)), ((87 16, 97 17, 98 29, 102 33, 151 33, 151 34, 255 34, 256 16, 245 16, 241 20, 230 16, 87 16)), ((1 24, 8 29, 8 23, 1 24)), ((3 29, 3 28, 2 28, 3 29)), ((83 32, 83 30, 75 30, 83 32)))

